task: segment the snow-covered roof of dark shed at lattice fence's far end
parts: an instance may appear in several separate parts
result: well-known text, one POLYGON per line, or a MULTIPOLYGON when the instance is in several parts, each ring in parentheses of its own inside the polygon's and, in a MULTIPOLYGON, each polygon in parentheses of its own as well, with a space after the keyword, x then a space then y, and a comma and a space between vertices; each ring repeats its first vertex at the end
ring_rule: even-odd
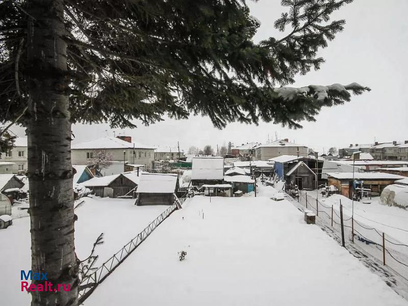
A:
POLYGON ((174 193, 178 175, 173 173, 143 173, 137 193, 174 193))

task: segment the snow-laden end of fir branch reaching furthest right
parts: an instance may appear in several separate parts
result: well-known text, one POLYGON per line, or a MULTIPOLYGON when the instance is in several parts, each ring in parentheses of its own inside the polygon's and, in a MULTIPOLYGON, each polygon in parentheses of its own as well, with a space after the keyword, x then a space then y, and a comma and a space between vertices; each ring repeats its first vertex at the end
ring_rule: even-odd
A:
POLYGON ((299 96, 313 97, 319 101, 330 99, 330 97, 342 97, 345 100, 350 99, 349 91, 353 94, 359 95, 364 91, 370 91, 371 89, 365 86, 361 86, 358 83, 351 83, 348 85, 341 85, 335 83, 333 85, 309 85, 305 87, 281 87, 275 88, 274 92, 278 94, 284 101, 296 100, 299 96))

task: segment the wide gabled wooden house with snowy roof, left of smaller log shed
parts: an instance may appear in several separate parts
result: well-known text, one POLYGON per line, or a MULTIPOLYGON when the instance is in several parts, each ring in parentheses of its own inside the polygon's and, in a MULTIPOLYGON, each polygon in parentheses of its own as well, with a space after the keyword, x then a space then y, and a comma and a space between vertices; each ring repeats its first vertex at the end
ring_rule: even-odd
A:
POLYGON ((131 193, 139 184, 140 176, 136 172, 124 172, 108 176, 93 177, 82 183, 101 197, 118 197, 131 193))

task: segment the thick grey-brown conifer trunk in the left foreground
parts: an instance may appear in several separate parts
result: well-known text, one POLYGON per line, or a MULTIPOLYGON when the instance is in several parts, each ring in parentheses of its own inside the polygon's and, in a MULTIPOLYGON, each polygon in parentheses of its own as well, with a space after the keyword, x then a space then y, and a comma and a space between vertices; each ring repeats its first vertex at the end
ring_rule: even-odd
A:
MULTIPOLYGON (((54 288, 65 284, 70 289, 33 291, 33 306, 78 303, 63 14, 63 0, 30 1, 27 135, 32 271, 48 273, 47 281, 54 288)), ((32 284, 44 280, 33 279, 32 284)))

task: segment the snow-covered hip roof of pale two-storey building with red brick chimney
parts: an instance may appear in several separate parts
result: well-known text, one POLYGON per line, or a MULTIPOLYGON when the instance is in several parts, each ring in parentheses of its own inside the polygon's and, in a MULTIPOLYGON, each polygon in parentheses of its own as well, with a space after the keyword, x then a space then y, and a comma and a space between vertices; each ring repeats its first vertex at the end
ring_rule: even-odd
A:
POLYGON ((153 149, 153 147, 137 143, 127 142, 116 137, 105 136, 91 141, 75 143, 71 145, 72 149, 153 149))

